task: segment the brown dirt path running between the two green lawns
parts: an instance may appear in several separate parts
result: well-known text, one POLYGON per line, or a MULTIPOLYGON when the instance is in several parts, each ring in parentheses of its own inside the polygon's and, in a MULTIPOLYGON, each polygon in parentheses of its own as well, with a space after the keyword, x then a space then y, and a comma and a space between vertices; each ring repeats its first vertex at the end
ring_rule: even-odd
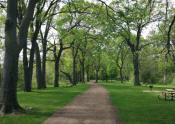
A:
POLYGON ((43 124, 120 124, 107 90, 92 82, 88 84, 91 88, 75 97, 43 124))

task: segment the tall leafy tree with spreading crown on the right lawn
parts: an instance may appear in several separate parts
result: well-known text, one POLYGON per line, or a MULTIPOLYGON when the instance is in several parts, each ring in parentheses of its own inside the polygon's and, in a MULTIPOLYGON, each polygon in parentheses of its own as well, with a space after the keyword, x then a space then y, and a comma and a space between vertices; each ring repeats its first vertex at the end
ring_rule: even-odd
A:
POLYGON ((139 79, 139 52, 150 43, 143 42, 142 32, 151 23, 162 18, 159 0, 127 0, 112 2, 107 5, 100 0, 108 9, 108 21, 110 30, 118 32, 131 49, 134 67, 134 85, 140 85, 139 79), (117 10, 116 10, 117 8, 117 10), (118 17, 118 18, 116 18, 118 17))

